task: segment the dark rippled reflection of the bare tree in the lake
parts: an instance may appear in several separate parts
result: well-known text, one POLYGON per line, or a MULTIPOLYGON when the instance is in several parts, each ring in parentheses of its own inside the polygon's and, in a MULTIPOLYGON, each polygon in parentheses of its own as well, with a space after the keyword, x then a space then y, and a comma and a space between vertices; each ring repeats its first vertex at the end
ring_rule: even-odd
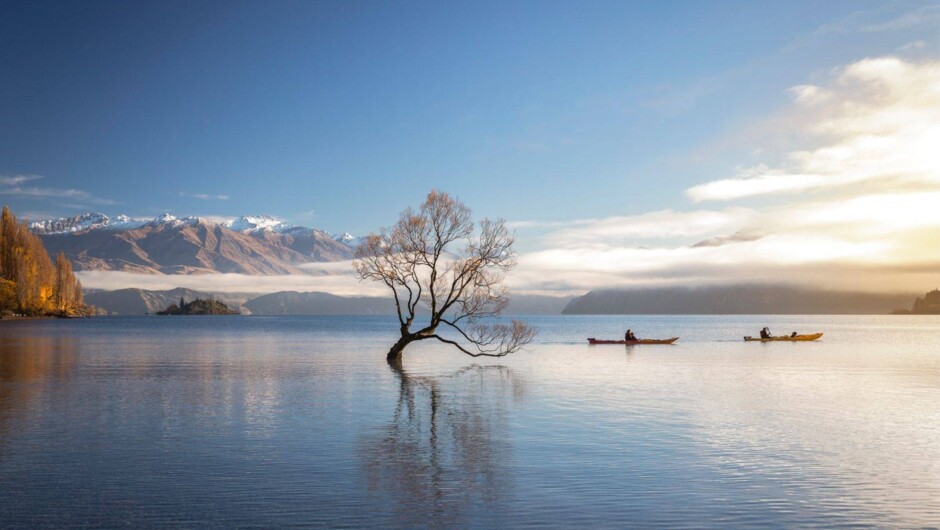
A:
POLYGON ((400 359, 389 366, 399 381, 395 412, 361 446, 369 490, 406 526, 459 526, 469 510, 504 499, 508 405, 522 399, 522 381, 505 366, 440 377, 410 375, 400 359))

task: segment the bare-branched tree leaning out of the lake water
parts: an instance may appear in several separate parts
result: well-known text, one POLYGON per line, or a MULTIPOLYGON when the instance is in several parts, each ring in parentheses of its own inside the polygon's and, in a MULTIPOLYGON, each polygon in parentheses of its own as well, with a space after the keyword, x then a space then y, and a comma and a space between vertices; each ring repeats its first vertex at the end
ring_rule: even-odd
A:
POLYGON ((516 264, 513 240, 501 219, 483 219, 476 233, 470 209, 437 190, 417 211, 403 211, 391 229, 366 237, 356 249, 356 272, 388 286, 398 312, 401 338, 388 359, 425 339, 474 357, 502 357, 531 342, 535 331, 524 322, 484 322, 509 303, 503 279, 516 264), (430 319, 413 330, 419 306, 430 319))

